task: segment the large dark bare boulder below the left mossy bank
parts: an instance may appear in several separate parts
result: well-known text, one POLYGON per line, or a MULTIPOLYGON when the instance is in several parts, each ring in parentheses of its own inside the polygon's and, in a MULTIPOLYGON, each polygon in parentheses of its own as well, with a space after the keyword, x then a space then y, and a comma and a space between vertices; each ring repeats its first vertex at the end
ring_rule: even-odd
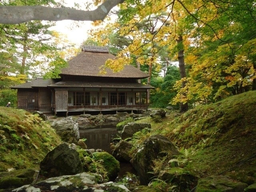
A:
POLYGON ((48 177, 74 175, 83 171, 79 153, 66 143, 48 152, 40 163, 40 169, 48 177))

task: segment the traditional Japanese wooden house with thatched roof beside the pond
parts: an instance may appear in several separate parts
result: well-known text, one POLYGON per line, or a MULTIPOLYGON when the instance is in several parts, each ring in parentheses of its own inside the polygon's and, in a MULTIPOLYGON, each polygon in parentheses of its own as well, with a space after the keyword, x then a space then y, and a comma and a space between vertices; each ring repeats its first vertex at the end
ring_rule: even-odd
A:
POLYGON ((107 47, 83 46, 62 69, 60 79, 36 78, 12 87, 18 90, 18 108, 55 114, 147 109, 147 90, 153 87, 137 80, 148 74, 132 65, 116 73, 107 68, 106 74, 99 74, 106 60, 114 57, 107 47))

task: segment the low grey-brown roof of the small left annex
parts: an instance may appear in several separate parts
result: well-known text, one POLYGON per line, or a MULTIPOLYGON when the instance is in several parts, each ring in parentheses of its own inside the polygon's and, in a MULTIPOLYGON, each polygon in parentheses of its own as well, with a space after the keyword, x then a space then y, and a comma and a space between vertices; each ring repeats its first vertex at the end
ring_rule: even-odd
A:
POLYGON ((33 88, 33 87, 47 87, 50 84, 55 83, 56 81, 53 79, 44 79, 42 77, 37 77, 36 79, 32 81, 27 81, 26 83, 22 83, 20 85, 16 85, 11 87, 12 89, 18 89, 18 88, 33 88))

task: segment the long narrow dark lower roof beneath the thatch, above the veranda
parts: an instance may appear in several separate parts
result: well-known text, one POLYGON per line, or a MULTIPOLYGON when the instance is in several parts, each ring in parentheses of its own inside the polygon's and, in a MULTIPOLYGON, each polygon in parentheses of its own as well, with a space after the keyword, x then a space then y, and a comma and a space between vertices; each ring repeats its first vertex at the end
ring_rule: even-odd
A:
POLYGON ((152 86, 140 83, 119 83, 119 82, 78 82, 78 81, 60 81, 49 85, 48 87, 101 87, 101 88, 146 88, 153 89, 152 86))

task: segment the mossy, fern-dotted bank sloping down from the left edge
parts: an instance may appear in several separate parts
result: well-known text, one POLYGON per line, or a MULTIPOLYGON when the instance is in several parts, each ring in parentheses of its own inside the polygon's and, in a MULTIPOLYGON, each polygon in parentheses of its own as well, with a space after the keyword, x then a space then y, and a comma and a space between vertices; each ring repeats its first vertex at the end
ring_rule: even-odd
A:
POLYGON ((0 171, 38 168, 60 137, 38 115, 0 107, 0 171))

